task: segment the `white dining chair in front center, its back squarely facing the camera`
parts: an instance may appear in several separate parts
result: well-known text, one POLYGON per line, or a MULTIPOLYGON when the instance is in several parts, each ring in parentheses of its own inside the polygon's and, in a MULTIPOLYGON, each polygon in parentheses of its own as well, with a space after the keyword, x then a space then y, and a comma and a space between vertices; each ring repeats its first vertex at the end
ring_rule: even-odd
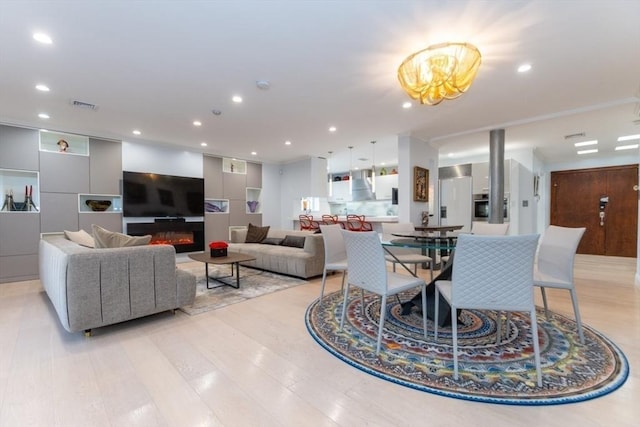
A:
MULTIPOLYGON (((435 318, 438 318, 439 295, 458 309, 528 312, 531 319, 531 339, 538 377, 542 386, 540 344, 536 307, 533 299, 533 264, 538 246, 537 234, 522 236, 458 237, 451 280, 436 280, 435 318)), ((498 331, 501 315, 497 315, 498 331)), ((458 379, 458 319, 452 319, 453 377, 458 379)), ((435 339, 438 324, 435 323, 435 339)))

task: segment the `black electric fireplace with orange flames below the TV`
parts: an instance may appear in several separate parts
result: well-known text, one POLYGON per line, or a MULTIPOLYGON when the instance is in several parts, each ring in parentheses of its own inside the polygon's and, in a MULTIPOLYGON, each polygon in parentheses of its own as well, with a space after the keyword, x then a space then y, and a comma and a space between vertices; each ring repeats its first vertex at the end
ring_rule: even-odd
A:
POLYGON ((151 235, 151 245, 173 245, 177 253, 204 250, 204 222, 182 219, 156 219, 155 222, 130 222, 127 234, 151 235))

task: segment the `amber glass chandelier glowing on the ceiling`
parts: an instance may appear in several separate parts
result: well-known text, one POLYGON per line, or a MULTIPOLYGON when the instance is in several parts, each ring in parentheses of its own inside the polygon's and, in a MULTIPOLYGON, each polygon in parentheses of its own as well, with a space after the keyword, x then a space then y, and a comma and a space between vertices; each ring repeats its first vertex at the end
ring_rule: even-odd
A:
POLYGON ((441 43, 407 57, 398 68, 398 80, 411 98, 437 105, 466 92, 480 62, 480 51, 471 43, 441 43))

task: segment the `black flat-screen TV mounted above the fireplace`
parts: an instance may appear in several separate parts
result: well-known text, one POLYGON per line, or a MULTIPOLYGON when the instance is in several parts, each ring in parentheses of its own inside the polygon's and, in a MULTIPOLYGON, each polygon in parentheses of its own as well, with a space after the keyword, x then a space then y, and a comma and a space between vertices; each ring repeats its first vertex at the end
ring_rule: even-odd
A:
POLYGON ((122 214, 183 218, 204 215, 204 179, 124 171, 122 214))

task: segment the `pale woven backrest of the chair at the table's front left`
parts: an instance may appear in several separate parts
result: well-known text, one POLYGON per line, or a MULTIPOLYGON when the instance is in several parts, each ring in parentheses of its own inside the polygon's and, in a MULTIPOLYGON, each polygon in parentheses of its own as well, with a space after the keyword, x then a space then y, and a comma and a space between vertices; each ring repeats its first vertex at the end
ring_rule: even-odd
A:
POLYGON ((359 288, 386 294, 387 264, 375 231, 341 230, 347 248, 347 280, 359 288))

